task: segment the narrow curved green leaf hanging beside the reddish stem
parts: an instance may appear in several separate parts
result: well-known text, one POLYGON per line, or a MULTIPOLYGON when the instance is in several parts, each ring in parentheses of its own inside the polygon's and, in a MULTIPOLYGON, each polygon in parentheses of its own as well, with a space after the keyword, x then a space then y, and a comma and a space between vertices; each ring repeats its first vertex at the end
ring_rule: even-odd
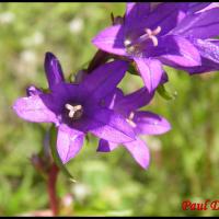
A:
POLYGON ((55 125, 53 125, 50 127, 50 149, 51 149, 51 155, 54 158, 55 163, 57 164, 57 166, 60 169, 60 171, 73 183, 76 183, 76 180, 73 178, 73 176, 69 173, 69 171, 67 170, 67 168, 62 164, 58 152, 56 150, 56 139, 57 139, 57 129, 55 127, 55 125))

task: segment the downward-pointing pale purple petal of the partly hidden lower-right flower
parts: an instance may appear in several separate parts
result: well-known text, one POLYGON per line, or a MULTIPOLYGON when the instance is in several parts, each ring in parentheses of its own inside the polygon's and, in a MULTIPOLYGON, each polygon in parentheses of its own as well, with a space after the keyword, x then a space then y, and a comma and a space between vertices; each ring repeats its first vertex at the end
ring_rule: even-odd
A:
POLYGON ((150 163, 150 151, 141 139, 137 138, 135 141, 126 142, 125 148, 141 168, 148 168, 150 163))

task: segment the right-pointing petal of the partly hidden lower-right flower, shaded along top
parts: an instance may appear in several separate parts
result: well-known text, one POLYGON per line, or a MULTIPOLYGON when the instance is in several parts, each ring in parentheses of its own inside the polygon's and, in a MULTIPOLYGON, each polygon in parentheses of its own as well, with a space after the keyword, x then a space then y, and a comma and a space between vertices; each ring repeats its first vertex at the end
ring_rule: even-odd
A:
POLYGON ((151 112, 136 112, 134 123, 138 135, 160 135, 171 129, 170 123, 151 112))

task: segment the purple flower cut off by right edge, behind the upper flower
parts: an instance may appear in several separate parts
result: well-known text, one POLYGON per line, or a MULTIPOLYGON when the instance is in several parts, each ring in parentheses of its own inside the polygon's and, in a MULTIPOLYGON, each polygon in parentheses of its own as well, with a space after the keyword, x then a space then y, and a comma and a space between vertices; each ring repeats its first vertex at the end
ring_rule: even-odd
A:
POLYGON ((200 12, 188 14, 171 34, 178 34, 189 41, 198 50, 201 64, 195 67, 183 67, 181 69, 193 73, 204 73, 219 69, 219 3, 200 12))

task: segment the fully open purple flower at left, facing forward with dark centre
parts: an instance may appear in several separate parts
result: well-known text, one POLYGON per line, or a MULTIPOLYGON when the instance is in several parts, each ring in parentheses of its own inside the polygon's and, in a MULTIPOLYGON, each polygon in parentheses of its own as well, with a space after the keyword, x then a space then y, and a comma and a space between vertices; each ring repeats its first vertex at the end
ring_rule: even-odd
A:
POLYGON ((13 108, 25 120, 56 125, 57 151, 64 163, 80 151, 88 131, 111 142, 132 141, 135 132, 126 119, 102 106, 127 68, 126 61, 112 61, 99 67, 81 83, 67 83, 59 61, 47 53, 45 71, 49 92, 32 85, 26 90, 27 97, 18 99, 13 108))

